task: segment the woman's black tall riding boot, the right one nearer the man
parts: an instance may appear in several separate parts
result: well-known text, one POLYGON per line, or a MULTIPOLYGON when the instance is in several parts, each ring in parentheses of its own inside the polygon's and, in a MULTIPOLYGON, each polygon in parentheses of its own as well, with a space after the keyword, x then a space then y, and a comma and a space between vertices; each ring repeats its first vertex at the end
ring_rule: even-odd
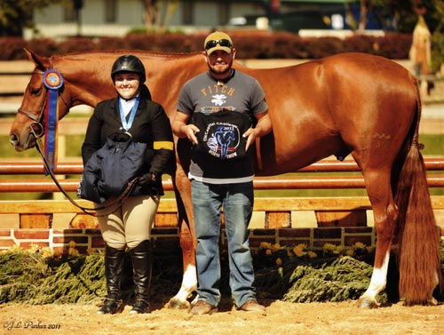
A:
POLYGON ((134 305, 131 314, 149 313, 149 289, 151 286, 152 256, 151 242, 145 240, 131 249, 131 261, 134 272, 134 305))

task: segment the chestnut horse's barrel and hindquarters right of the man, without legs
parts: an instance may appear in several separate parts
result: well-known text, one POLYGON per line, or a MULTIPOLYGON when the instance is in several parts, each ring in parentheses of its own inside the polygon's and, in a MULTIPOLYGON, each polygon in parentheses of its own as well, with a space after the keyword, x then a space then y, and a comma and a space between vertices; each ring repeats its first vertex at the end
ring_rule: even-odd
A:
POLYGON ((365 150, 361 164, 380 164, 371 158, 377 148, 391 164, 416 113, 414 79, 383 57, 343 53, 250 74, 264 87, 274 129, 273 143, 261 143, 266 174, 276 170, 266 164, 294 171, 326 156, 362 156, 365 150))

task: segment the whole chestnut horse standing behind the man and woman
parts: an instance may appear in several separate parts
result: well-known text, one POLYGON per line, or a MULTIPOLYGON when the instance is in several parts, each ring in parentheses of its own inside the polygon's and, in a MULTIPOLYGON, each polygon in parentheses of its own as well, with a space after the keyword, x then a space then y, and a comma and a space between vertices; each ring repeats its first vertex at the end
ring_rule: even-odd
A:
MULTIPOLYGON (((30 127, 44 132, 45 70, 54 68, 63 76, 62 118, 75 105, 94 107, 115 96, 110 70, 124 53, 144 62, 153 100, 163 105, 170 119, 182 85, 207 69, 199 53, 83 52, 44 58, 28 52, 35 69, 12 124, 12 146, 21 151, 36 145, 30 127)), ((364 53, 342 53, 285 68, 234 67, 258 79, 269 105, 274 131, 256 143, 257 175, 297 171, 331 155, 343 160, 351 154, 360 166, 375 217, 377 249, 369 288, 359 306, 377 307, 392 242, 398 245, 400 297, 408 305, 436 302, 433 291, 437 286, 442 291, 440 243, 419 152, 421 101, 416 79, 392 60, 364 53)), ((208 89, 217 93, 226 86, 208 89)), ((170 307, 185 307, 196 285, 195 241, 186 178, 188 144, 176 139, 176 146, 177 166, 171 177, 184 277, 170 307)))

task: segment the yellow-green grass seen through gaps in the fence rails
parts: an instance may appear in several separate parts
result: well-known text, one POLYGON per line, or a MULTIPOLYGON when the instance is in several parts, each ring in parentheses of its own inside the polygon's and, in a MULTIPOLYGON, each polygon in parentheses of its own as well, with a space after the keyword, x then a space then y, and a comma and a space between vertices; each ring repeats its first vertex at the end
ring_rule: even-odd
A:
MULTIPOLYGON (((424 156, 443 156, 444 153, 444 135, 421 135, 420 142, 424 143, 424 150, 422 151, 424 156)), ((69 157, 81 156, 81 147, 83 143, 83 135, 70 135, 67 136, 66 141, 66 153, 69 157)), ((12 146, 9 144, 8 136, 4 135, 0 141, 0 157, 11 162, 14 159, 23 160, 25 158, 32 158, 39 160, 38 153, 36 149, 30 149, 24 152, 16 152, 13 150, 12 146)), ((68 160, 68 159, 67 159, 68 160)), ((359 172, 355 172, 359 174, 359 172)), ((432 171, 433 174, 443 173, 444 171, 432 171)), ((289 175, 301 175, 301 173, 289 173, 289 175)), ((315 173, 315 175, 331 175, 332 173, 315 173)), ((342 173, 350 174, 350 173, 342 173)), ((308 173, 302 173, 302 175, 308 176, 308 173)), ((311 174, 313 175, 313 174, 311 174)), ((335 175, 340 175, 336 173, 335 175)), ((78 176, 73 176, 78 178, 78 176)), ((1 175, 0 179, 26 179, 26 178, 50 178, 42 175, 1 175)), ((444 195, 444 189, 442 187, 431 187, 431 195, 444 195)), ((367 193, 365 189, 289 189, 289 190, 258 190, 256 191, 256 196, 266 197, 266 196, 366 196, 367 193)), ((167 197, 173 197, 172 192, 167 192, 167 197)), ((73 194, 73 197, 75 195, 73 194)), ((51 198, 51 194, 38 194, 38 193, 4 193, 0 194, 0 200, 33 200, 33 199, 43 199, 51 198)))

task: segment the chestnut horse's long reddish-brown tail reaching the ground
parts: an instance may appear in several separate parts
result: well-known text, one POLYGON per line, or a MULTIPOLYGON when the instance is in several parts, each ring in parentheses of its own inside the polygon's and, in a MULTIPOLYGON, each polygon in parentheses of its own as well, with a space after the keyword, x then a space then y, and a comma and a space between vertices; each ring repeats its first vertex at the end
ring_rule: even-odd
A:
MULTIPOLYGON (((413 79, 412 79, 413 80, 413 79)), ((424 158, 418 143, 421 100, 416 87, 416 117, 409 132, 409 146, 404 158, 395 202, 399 208, 399 271, 400 298, 407 305, 424 305, 432 302, 437 285, 442 292, 440 268, 440 238, 432 211, 424 158)))

